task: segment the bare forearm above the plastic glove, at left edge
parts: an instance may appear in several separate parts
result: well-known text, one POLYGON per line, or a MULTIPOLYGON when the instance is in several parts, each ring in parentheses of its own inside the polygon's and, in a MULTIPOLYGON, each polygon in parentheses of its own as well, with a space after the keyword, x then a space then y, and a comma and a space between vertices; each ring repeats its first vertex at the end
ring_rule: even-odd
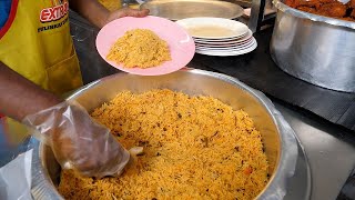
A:
POLYGON ((0 112, 21 121, 62 100, 0 62, 0 112))

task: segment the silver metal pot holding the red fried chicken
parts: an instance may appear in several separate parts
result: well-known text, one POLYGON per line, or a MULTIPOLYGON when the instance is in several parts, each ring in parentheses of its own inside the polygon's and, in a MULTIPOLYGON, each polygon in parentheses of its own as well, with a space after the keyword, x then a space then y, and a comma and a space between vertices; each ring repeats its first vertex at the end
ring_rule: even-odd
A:
POLYGON ((355 92, 355 22, 277 8, 271 56, 285 72, 327 89, 355 92))

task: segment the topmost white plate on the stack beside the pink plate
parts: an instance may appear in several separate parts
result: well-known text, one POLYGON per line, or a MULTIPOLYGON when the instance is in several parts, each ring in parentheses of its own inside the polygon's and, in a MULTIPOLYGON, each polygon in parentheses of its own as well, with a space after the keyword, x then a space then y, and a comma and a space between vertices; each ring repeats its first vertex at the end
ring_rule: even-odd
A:
POLYGON ((224 18, 186 18, 176 23, 200 39, 233 39, 246 34, 248 30, 246 24, 224 18))

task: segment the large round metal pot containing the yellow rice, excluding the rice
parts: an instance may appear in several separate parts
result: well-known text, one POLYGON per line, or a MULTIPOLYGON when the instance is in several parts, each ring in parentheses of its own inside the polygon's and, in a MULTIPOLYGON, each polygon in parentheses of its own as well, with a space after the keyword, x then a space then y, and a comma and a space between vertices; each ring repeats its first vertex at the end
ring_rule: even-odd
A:
MULTIPOLYGON (((77 100, 89 111, 111 100, 118 92, 144 92, 151 89, 171 89, 187 94, 207 94, 243 109, 253 118, 263 137, 270 163, 271 179, 260 199, 282 199, 286 181, 293 176, 297 158, 294 132, 271 101, 261 92, 239 80, 202 70, 181 70, 160 77, 140 77, 118 73, 83 87, 69 99, 77 100)), ((37 144, 32 164, 32 193, 36 199, 61 199, 55 190, 60 166, 52 151, 37 144)))

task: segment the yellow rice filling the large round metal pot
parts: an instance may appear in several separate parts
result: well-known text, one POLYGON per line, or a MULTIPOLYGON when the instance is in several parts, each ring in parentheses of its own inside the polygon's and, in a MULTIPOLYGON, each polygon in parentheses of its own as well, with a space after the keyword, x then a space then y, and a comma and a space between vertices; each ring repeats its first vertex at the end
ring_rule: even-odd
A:
POLYGON ((171 90, 119 93, 92 112, 144 154, 120 178, 61 173, 65 199, 253 199, 268 181, 261 134, 243 110, 171 90))

